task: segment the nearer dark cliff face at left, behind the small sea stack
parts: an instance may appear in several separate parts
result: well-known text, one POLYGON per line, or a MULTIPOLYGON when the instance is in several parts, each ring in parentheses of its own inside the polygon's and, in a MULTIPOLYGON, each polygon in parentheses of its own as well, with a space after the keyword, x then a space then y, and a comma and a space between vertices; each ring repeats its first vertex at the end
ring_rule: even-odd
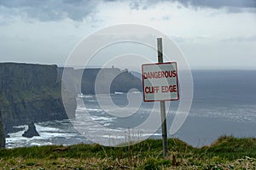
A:
MULTIPOLYGON (((75 98, 70 102, 75 108, 75 98)), ((0 64, 0 110, 7 130, 13 125, 67 118, 57 66, 0 64)))

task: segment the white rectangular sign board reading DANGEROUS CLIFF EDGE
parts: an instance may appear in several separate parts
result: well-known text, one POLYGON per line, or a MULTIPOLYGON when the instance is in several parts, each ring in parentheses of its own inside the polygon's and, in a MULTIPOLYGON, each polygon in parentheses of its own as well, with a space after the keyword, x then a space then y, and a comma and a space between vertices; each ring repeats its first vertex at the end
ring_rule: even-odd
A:
POLYGON ((143 100, 178 100, 177 63, 155 63, 142 65, 143 100))

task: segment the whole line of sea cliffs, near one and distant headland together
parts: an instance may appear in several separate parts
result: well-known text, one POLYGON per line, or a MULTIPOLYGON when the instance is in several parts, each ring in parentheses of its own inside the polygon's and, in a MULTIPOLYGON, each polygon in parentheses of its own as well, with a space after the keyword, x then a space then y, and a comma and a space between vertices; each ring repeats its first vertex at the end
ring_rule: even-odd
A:
POLYGON ((110 93, 128 92, 131 88, 142 90, 139 78, 118 68, 75 70, 70 67, 65 71, 67 79, 61 82, 63 68, 56 65, 0 63, 0 112, 6 133, 15 125, 74 117, 77 94, 95 94, 99 71, 102 73, 97 82, 100 94, 109 93, 105 85, 113 76, 110 93), (82 78, 81 88, 79 78, 82 78), (68 105, 68 111, 63 103, 68 105))

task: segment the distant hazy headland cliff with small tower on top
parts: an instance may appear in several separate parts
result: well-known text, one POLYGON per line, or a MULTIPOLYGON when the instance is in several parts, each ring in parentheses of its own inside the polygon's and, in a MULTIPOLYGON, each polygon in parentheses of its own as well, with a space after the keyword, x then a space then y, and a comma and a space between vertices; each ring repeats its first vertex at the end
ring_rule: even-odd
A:
MULTIPOLYGON (((58 68, 58 75, 62 77, 63 68, 58 68)), ((77 94, 96 94, 95 93, 95 85, 96 85, 96 77, 97 86, 100 87, 97 93, 99 94, 108 94, 109 91, 111 94, 114 92, 128 92, 131 88, 137 88, 142 91, 142 81, 134 77, 127 70, 120 70, 118 68, 86 68, 86 69, 77 69, 67 68, 66 76, 69 80, 67 82, 73 82, 75 85, 75 91, 77 94), (100 73, 98 75, 98 73, 100 73), (106 85, 109 81, 110 77, 114 77, 113 81, 110 82, 110 89, 106 85), (81 88, 79 88, 79 78, 81 79, 81 88)), ((69 85, 71 87, 71 85, 69 85)))

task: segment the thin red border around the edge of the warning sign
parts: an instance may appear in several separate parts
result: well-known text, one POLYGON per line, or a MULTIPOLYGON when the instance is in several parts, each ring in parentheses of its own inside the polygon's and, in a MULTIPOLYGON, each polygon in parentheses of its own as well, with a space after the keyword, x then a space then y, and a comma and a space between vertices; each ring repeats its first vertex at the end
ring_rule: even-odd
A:
MULTIPOLYGON (((143 64, 143 65, 166 65, 166 64, 173 64, 175 63, 176 72, 177 72, 177 62, 166 62, 166 63, 150 63, 150 64, 143 64)), ((143 76, 143 65, 142 65, 142 76, 143 76)), ((176 77, 177 81, 177 77, 176 77)), ((157 99, 157 100, 145 100, 145 93, 144 93, 144 77, 143 77, 143 101, 144 102, 154 102, 154 101, 173 101, 179 99, 179 90, 178 90, 178 82, 177 82, 177 99, 157 99)))

